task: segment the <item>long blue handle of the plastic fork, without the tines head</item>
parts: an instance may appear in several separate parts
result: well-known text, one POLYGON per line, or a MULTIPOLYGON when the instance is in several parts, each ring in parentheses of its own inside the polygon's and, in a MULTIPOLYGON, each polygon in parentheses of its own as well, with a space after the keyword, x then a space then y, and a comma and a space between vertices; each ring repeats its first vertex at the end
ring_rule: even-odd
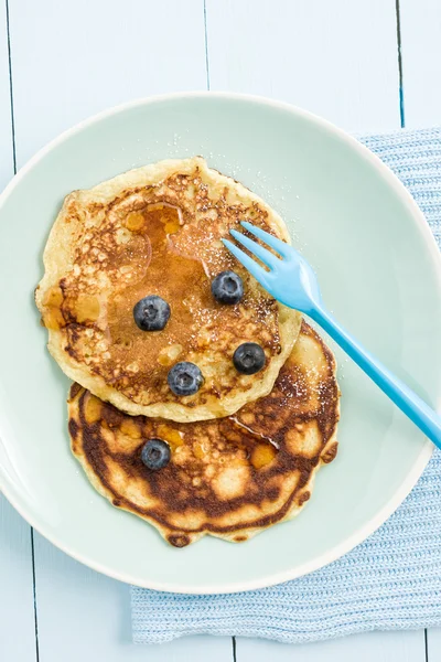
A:
POLYGON ((401 380, 365 350, 327 310, 318 308, 310 317, 359 365, 381 391, 441 448, 441 417, 401 380))

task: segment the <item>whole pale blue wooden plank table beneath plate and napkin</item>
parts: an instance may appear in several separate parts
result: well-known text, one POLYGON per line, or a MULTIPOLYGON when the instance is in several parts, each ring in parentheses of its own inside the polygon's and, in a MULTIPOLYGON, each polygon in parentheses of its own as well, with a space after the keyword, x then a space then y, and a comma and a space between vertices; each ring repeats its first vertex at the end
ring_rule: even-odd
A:
MULTIPOLYGON (((207 88, 291 102, 349 131, 440 124, 441 2, 1 0, 0 189, 98 110, 207 88)), ((0 496, 0 660, 441 662, 441 631, 135 647, 128 587, 65 556, 0 496)))

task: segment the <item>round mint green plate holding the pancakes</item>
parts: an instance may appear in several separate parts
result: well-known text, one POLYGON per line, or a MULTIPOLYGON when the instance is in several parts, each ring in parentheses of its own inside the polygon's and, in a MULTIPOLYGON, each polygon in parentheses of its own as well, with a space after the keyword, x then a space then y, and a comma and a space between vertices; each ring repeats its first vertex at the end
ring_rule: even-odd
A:
POLYGON ((226 94, 146 99, 67 131, 0 199, 0 485, 55 545, 123 581, 228 592, 284 581, 361 543, 398 506, 431 453, 423 436, 336 351, 340 453, 294 521, 243 545, 185 549, 89 485, 66 431, 68 380, 50 357, 33 289, 63 197, 119 172, 203 154, 277 209, 331 310, 427 401, 441 404, 441 268, 424 218, 354 139, 295 108, 226 94))

